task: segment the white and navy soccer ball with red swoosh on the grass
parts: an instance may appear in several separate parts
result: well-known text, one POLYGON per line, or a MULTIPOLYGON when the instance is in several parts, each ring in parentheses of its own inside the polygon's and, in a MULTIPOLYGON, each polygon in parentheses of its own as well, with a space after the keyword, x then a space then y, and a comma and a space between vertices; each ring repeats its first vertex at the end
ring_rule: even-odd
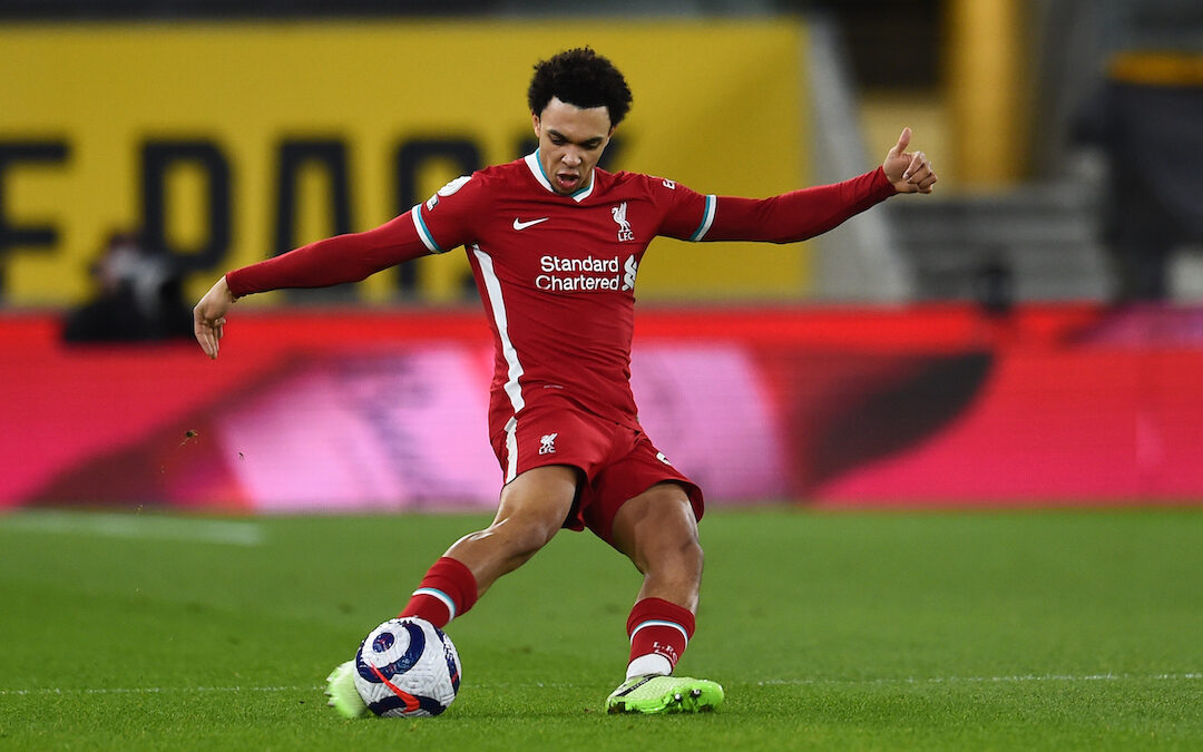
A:
POLYGON ((460 691, 460 653, 425 618, 390 618, 355 653, 355 688, 378 716, 437 716, 460 691))

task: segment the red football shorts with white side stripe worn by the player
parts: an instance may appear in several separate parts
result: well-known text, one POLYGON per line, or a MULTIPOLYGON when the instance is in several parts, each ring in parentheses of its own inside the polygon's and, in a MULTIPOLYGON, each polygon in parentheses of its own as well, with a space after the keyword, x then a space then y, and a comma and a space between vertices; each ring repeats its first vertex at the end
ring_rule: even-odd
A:
POLYGON ((567 464, 581 470, 573 509, 564 527, 586 527, 614 545, 610 532, 618 508, 663 481, 680 484, 693 514, 705 509, 701 488, 669 464, 638 427, 598 418, 571 403, 547 399, 529 405, 510 426, 491 426, 493 452, 505 482, 537 467, 567 464))

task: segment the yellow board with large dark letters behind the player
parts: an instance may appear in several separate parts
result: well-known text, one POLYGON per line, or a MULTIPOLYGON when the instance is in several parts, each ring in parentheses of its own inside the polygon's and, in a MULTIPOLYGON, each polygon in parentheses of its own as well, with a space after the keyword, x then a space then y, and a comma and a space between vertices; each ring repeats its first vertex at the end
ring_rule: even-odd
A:
MULTIPOLYGON (((84 300, 113 230, 179 256, 196 295, 229 268, 384 223, 531 150, 532 66, 582 45, 634 91, 606 167, 719 195, 807 183, 805 29, 793 22, 10 24, 0 300, 84 300)), ((349 294, 463 294, 463 254, 411 266, 349 294)), ((660 238, 639 284, 644 300, 795 297, 810 266, 805 245, 660 238)))

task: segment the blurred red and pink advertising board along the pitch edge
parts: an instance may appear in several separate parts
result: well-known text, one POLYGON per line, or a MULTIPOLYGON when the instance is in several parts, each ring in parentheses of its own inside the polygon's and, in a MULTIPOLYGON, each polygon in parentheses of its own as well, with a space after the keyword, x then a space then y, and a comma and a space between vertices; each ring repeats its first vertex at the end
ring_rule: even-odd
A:
MULTIPOLYGON (((0 319, 0 508, 487 509, 476 312, 248 313, 67 348, 0 319)), ((650 310, 633 390, 712 505, 1199 503, 1203 313, 650 310)))

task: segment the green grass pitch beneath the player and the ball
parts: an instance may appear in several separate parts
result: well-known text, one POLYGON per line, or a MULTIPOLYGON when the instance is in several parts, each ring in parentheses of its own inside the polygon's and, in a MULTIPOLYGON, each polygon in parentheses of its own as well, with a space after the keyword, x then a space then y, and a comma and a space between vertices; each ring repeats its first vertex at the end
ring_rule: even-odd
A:
POLYGON ((451 624, 450 711, 338 718, 321 679, 485 522, 0 517, 0 747, 1203 747, 1203 509, 711 513, 697 717, 602 711, 638 578, 563 533, 451 624))

